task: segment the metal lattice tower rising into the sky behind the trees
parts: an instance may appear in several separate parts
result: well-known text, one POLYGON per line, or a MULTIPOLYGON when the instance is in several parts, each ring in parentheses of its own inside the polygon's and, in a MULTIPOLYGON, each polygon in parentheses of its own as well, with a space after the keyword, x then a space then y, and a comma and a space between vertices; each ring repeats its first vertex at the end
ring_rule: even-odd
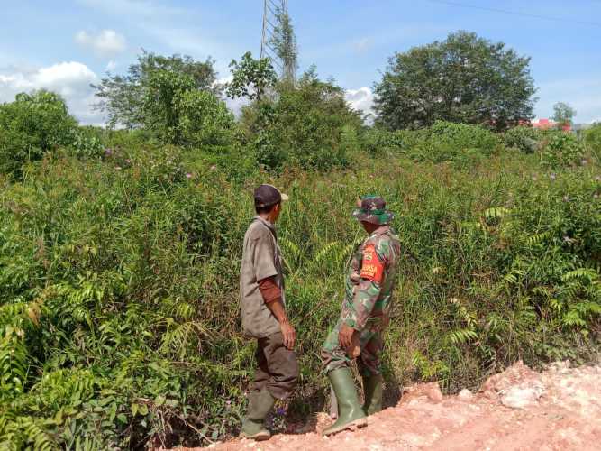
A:
POLYGON ((261 32, 260 58, 269 58, 284 78, 295 77, 296 67, 281 52, 274 49, 271 42, 278 30, 281 30, 280 18, 288 14, 287 0, 263 0, 263 30, 261 32))

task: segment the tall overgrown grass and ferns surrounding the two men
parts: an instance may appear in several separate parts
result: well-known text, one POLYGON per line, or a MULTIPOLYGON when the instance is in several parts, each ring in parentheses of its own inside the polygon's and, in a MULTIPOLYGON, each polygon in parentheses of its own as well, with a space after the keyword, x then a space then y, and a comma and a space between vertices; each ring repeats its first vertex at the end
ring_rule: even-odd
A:
POLYGON ((260 182, 284 189, 278 234, 301 379, 290 412, 323 406, 319 346, 339 314, 379 193, 403 245, 386 336, 397 383, 473 388, 517 359, 596 355, 601 170, 543 170, 497 152, 464 166, 361 156, 356 170, 241 172, 178 148, 56 154, 0 194, 0 441, 208 443, 240 421, 253 373, 241 336, 241 241, 260 182))

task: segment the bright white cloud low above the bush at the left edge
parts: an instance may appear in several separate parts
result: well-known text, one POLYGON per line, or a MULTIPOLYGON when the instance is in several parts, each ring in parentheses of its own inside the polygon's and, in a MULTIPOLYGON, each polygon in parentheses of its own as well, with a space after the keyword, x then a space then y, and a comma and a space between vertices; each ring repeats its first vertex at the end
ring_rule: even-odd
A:
POLYGON ((0 102, 12 102, 20 92, 48 89, 62 96, 69 113, 82 124, 103 124, 102 115, 92 111, 96 102, 91 83, 97 83, 96 74, 77 61, 60 62, 39 69, 0 69, 0 102))

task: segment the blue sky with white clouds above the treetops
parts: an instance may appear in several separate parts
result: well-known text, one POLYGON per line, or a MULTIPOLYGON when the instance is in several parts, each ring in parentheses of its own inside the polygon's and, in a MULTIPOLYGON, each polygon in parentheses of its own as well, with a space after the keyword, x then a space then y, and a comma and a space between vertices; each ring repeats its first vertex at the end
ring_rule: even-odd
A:
MULTIPOLYGON (((0 0, 0 102, 59 92, 82 124, 103 124, 90 84, 124 73, 141 49, 211 57, 220 79, 245 51, 260 52, 262 0, 0 0)), ((476 32, 529 56, 534 113, 567 102, 575 122, 601 121, 601 0, 288 0, 299 70, 316 65, 354 106, 396 51, 476 32)), ((232 109, 239 103, 230 102, 232 109)))

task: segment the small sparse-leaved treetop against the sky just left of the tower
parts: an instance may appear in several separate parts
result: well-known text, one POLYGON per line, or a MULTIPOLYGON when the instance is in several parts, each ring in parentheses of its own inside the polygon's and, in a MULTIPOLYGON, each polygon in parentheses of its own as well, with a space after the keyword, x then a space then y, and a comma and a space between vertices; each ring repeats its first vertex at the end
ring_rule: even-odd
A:
POLYGON ((240 62, 232 60, 230 68, 233 78, 227 83, 225 92, 231 98, 246 97, 260 101, 266 91, 278 81, 269 58, 255 60, 250 51, 242 55, 240 62))

